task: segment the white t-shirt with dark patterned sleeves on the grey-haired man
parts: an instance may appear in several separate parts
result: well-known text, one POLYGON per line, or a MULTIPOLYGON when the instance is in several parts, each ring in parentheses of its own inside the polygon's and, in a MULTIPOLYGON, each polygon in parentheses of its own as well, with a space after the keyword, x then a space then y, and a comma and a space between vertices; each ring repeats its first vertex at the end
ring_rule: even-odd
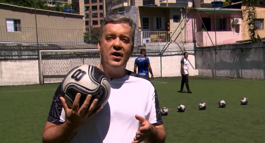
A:
MULTIPOLYGON (((110 80, 110 84, 111 93, 107 104, 78 129, 71 143, 132 142, 139 129, 136 114, 155 126, 163 124, 157 93, 148 79, 128 71, 126 76, 110 80)), ((59 96, 64 93, 60 91, 60 86, 58 88, 47 118, 54 124, 65 121, 65 113, 59 101, 59 96)))

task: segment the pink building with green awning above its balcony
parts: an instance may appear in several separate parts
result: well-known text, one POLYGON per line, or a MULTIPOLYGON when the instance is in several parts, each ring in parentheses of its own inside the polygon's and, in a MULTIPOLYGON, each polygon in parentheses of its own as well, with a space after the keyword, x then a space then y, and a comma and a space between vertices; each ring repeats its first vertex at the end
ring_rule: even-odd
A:
MULTIPOLYGON (((193 28, 189 25, 193 25, 192 22, 194 22, 193 10, 189 12, 188 18, 190 18, 191 20, 187 22, 186 35, 191 35, 193 34, 193 28)), ((195 10, 195 38, 197 46, 205 47, 214 46, 215 44, 225 45, 236 43, 236 41, 242 40, 241 21, 241 9, 214 10, 213 8, 200 8, 195 10), (235 21, 234 27, 230 24, 233 21, 235 21)), ((189 41, 190 38, 193 37, 186 36, 186 41, 189 41)))

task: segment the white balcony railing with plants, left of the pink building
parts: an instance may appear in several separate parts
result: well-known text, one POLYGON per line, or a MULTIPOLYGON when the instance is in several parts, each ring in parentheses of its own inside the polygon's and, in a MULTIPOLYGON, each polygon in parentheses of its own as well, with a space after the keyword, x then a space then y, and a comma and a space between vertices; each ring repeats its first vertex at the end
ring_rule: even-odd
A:
POLYGON ((141 44, 148 42, 168 42, 170 41, 170 34, 168 31, 140 31, 141 44))

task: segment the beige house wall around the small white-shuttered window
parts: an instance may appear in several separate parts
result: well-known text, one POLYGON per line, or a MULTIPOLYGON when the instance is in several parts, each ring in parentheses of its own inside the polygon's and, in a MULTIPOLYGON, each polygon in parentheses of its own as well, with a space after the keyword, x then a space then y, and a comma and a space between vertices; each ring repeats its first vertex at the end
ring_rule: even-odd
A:
MULTIPOLYGON (((36 10, 38 42, 83 43, 83 16, 36 10)), ((35 11, 30 8, 0 5, 0 42, 37 42, 35 11), (7 32, 6 18, 20 19, 21 32, 7 32)))

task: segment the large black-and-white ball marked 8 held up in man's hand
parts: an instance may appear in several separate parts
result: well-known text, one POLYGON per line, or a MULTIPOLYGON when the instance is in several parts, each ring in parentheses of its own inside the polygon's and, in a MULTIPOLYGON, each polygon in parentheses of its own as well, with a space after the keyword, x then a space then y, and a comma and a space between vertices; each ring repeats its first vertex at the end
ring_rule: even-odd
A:
POLYGON ((67 73, 62 81, 62 90, 69 108, 72 108, 77 93, 81 94, 79 106, 84 103, 88 94, 91 94, 89 106, 94 99, 98 99, 95 109, 104 106, 109 98, 110 83, 106 74, 95 66, 77 66, 67 73))

